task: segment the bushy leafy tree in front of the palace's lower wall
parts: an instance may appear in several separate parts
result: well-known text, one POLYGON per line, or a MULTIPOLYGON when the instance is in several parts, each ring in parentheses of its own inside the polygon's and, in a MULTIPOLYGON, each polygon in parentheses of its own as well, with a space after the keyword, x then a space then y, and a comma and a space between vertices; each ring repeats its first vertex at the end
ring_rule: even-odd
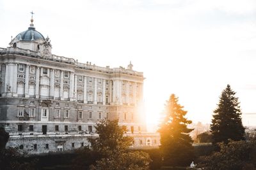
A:
POLYGON ((77 150, 74 169, 148 169, 150 157, 145 152, 129 150, 132 138, 124 136, 126 129, 118 126, 118 120, 102 120, 95 126, 99 137, 89 138, 89 147, 77 150), (82 162, 82 163, 81 163, 82 162))

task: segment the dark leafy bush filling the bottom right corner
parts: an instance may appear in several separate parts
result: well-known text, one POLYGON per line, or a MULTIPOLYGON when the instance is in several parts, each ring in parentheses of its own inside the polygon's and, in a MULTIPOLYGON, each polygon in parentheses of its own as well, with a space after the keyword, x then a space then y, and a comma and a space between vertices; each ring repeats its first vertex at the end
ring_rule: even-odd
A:
POLYGON ((220 170, 256 169, 256 141, 220 143, 220 152, 201 157, 198 167, 220 170))

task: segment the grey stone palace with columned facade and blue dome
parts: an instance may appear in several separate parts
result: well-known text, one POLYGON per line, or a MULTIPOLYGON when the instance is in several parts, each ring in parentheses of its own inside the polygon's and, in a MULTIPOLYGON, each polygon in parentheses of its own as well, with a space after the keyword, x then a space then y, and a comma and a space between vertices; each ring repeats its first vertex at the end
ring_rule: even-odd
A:
POLYGON ((0 48, 0 125, 10 134, 7 146, 32 154, 79 148, 97 136, 94 125, 103 118, 127 128, 131 147, 159 145, 159 134, 146 129, 143 73, 131 63, 100 67, 54 55, 33 18, 9 45, 0 48))

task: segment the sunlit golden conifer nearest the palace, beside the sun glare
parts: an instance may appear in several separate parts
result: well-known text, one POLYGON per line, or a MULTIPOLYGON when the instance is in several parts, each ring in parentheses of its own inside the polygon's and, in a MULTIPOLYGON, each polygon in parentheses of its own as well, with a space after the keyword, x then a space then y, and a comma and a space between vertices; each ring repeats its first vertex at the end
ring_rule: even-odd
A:
POLYGON ((187 111, 183 110, 184 107, 178 101, 174 94, 166 101, 166 117, 159 129, 164 165, 184 166, 194 158, 193 140, 189 136, 193 129, 187 127, 192 122, 185 118, 187 111))

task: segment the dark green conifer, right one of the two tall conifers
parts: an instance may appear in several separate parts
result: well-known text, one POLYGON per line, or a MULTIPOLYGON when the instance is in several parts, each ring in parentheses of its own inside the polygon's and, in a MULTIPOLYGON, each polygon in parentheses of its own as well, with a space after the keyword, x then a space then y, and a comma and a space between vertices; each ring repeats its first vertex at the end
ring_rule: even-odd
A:
POLYGON ((239 141, 244 139, 244 127, 238 97, 235 97, 230 85, 222 91, 218 107, 214 110, 211 132, 212 143, 228 143, 228 139, 239 141))

